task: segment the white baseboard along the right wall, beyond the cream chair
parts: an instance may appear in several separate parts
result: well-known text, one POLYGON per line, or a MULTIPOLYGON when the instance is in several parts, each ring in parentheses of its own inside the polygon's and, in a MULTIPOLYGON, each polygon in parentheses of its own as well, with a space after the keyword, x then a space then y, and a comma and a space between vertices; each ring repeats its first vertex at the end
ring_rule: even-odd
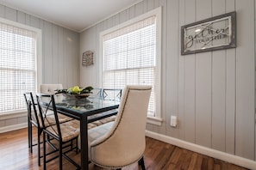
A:
POLYGON ((170 143, 172 145, 178 146, 183 149, 188 149, 193 152, 197 152, 199 154, 208 155, 210 157, 222 160, 222 161, 228 161, 232 164, 238 165, 240 167, 246 167, 249 169, 256 170, 256 161, 248 160, 246 158, 242 158, 237 155, 231 155, 227 154, 215 149, 209 149, 194 143, 188 143, 182 140, 179 140, 174 137, 167 137, 165 135, 161 135, 159 133, 155 133, 153 131, 146 131, 147 137, 152 137, 154 139, 157 139, 159 141, 170 143))

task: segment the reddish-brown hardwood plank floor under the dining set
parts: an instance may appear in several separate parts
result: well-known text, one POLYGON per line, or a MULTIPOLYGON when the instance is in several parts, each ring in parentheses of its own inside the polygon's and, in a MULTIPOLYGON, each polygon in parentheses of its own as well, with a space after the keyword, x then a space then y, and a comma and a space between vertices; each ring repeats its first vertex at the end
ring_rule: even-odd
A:
MULTIPOLYGON (((36 134, 34 134, 36 142, 36 134)), ((79 162, 79 154, 71 152, 76 161, 79 162)), ((223 170, 245 170, 224 161, 216 160, 211 157, 181 149, 171 144, 162 143, 147 137, 147 149, 145 151, 145 164, 147 170, 169 170, 169 169, 223 169, 223 170)), ((72 166, 63 158, 64 169, 72 170, 72 166)), ((1 170, 20 170, 33 169, 39 170, 43 166, 37 166, 37 149, 34 147, 31 154, 28 149, 28 131, 22 129, 0 134, 0 169, 1 170)), ((58 169, 58 159, 47 163, 47 169, 58 169)), ((91 170, 103 170, 103 168, 90 165, 91 170)), ((137 164, 123 168, 125 170, 139 170, 137 164)))

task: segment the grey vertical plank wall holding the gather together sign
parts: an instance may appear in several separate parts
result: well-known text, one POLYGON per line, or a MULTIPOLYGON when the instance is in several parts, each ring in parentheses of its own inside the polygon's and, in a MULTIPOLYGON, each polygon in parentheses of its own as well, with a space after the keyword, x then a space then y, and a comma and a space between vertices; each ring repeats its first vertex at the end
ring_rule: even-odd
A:
POLYGON ((80 34, 80 54, 95 51, 95 64, 81 68, 81 82, 100 84, 99 33, 162 7, 162 118, 148 131, 176 137, 255 161, 255 1, 144 0, 80 34), (237 13, 237 47, 180 55, 180 27, 237 13), (171 115, 178 127, 170 126, 171 115))

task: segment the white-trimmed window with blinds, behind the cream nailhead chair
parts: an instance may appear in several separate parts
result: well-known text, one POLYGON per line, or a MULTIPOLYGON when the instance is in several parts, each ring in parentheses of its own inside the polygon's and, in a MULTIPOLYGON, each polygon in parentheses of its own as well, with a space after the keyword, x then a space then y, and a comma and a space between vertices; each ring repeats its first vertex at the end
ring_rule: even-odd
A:
POLYGON ((103 88, 153 87, 147 116, 160 118, 160 9, 101 34, 103 88))

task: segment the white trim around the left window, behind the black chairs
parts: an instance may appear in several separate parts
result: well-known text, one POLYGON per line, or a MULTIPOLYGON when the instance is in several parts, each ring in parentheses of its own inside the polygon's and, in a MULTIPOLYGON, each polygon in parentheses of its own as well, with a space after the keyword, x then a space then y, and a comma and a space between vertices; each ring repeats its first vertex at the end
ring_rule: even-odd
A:
MULTIPOLYGON (((35 58, 35 63, 36 63, 36 91, 37 89, 39 89, 39 85, 41 84, 42 82, 42 49, 41 49, 41 45, 42 45, 42 38, 41 38, 41 29, 38 29, 36 27, 30 27, 28 25, 24 25, 22 23, 19 23, 19 22, 16 22, 16 21, 9 21, 7 19, 4 19, 4 18, 1 18, 0 17, 0 21, 5 23, 5 24, 9 24, 9 25, 12 25, 12 26, 15 26, 15 27, 21 27, 23 29, 28 29, 30 31, 34 31, 36 32, 36 58, 35 58)), ((24 105, 25 105, 25 102, 24 102, 24 105)), ((26 111, 27 112, 27 111, 26 111)), ((14 112, 6 112, 6 114, 3 114, 3 115, 0 115, 0 120, 3 120, 3 119, 8 119, 8 118, 19 118, 21 116, 24 115, 24 111, 14 111, 14 112)))

